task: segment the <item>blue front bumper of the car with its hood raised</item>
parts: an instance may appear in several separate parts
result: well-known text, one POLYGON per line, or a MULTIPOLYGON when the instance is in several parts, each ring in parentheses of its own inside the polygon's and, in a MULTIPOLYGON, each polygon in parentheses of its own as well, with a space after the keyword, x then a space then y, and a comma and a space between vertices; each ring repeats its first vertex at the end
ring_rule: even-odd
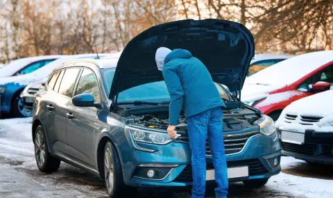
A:
MULTIPOLYGON (((270 137, 262 134, 254 135, 237 154, 226 156, 228 167, 248 166, 249 176, 230 179, 233 181, 244 181, 248 179, 269 178, 279 174, 280 167, 280 142, 273 139, 277 135, 274 133, 270 137), (268 162, 272 158, 278 158, 277 166, 272 167, 268 162)), ((150 149, 157 151, 148 153, 132 149, 127 142, 118 145, 119 156, 123 169, 123 179, 126 185, 140 186, 185 186, 192 184, 191 176, 191 151, 187 142, 173 142, 164 146, 151 146, 150 149), (139 165, 176 165, 170 167, 162 179, 143 179, 135 177, 139 165)), ((213 169, 212 157, 206 156, 207 170, 213 169)))

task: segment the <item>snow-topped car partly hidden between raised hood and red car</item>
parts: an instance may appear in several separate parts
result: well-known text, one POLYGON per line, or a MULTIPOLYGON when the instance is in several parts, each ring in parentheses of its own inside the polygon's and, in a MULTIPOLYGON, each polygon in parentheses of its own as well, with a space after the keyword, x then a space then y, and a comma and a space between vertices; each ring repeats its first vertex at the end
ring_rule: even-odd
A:
POLYGON ((251 76, 262 69, 266 69, 271 65, 280 63, 282 60, 293 57, 294 55, 289 54, 255 54, 255 57, 252 58, 250 67, 248 67, 248 76, 251 76))

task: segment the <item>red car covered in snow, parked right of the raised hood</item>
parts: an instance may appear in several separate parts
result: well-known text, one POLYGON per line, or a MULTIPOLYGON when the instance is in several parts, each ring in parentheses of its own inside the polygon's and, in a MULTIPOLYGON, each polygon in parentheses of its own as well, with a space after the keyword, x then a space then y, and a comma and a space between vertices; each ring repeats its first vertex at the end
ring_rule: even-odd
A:
POLYGON ((276 120, 291 102, 330 89, 333 51, 317 51, 289 58, 249 76, 241 100, 276 120))

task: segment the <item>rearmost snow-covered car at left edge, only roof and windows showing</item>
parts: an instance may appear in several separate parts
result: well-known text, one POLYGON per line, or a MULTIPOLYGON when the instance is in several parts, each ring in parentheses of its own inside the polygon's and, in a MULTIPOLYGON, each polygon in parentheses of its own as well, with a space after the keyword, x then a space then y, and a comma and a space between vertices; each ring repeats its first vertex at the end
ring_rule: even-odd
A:
POLYGON ((12 60, 10 63, 0 68, 0 78, 29 74, 60 57, 62 56, 34 56, 12 60))

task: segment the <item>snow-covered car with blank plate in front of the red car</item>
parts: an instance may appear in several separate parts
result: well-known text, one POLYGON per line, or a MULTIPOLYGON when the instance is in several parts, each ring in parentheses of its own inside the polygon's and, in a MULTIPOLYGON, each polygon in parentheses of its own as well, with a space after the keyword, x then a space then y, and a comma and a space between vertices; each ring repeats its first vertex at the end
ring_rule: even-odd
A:
POLYGON ((282 154, 333 164, 333 90, 294 101, 284 108, 275 127, 282 154))

